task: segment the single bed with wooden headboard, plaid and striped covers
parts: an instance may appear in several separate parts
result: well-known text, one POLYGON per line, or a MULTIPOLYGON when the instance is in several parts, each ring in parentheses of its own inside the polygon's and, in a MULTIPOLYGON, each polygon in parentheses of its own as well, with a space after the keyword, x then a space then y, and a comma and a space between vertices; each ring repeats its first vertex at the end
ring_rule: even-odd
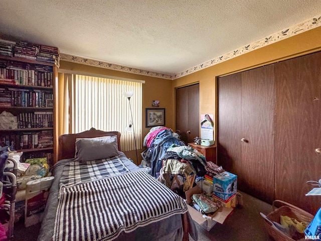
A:
MULTIPOLYGON (((185 200, 128 160, 119 143, 119 132, 94 128, 59 137, 59 161, 38 241, 189 240, 189 234, 197 240, 185 200), (106 136, 117 139, 118 158, 87 161, 88 153, 81 156, 87 149, 78 140, 87 145, 106 136)), ((94 148, 93 155, 104 151, 94 148)))

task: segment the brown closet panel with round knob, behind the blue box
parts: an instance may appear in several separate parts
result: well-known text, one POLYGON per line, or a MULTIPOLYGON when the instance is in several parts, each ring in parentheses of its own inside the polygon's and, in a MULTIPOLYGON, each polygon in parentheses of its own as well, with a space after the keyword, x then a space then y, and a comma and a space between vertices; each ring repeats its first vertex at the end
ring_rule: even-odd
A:
POLYGON ((274 200, 274 65, 242 72, 241 89, 238 186, 271 203, 274 200))

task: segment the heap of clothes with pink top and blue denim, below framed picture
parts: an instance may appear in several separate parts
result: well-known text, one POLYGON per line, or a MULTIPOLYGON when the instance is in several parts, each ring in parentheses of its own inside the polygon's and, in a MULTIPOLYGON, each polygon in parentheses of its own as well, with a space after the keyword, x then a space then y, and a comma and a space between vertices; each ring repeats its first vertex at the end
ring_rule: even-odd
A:
POLYGON ((163 165, 162 160, 165 159, 166 151, 173 144, 185 146, 185 143, 179 139, 179 135, 167 127, 153 127, 145 136, 143 146, 146 146, 147 150, 141 153, 142 166, 151 168, 151 176, 159 176, 163 165))

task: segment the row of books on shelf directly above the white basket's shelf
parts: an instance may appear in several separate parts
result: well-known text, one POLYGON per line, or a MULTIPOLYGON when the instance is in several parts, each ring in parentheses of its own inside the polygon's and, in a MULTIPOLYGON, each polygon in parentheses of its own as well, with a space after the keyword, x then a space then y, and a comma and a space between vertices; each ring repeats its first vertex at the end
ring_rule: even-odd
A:
POLYGON ((0 107, 53 107, 53 93, 42 90, 0 88, 0 107))

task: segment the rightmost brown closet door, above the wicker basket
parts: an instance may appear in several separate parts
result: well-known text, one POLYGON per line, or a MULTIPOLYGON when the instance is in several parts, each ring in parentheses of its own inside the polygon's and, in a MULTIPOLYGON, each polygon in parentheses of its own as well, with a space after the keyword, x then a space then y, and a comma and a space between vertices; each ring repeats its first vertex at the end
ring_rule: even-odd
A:
POLYGON ((321 178, 321 53, 275 65, 275 198, 314 214, 321 196, 305 196, 321 178))

